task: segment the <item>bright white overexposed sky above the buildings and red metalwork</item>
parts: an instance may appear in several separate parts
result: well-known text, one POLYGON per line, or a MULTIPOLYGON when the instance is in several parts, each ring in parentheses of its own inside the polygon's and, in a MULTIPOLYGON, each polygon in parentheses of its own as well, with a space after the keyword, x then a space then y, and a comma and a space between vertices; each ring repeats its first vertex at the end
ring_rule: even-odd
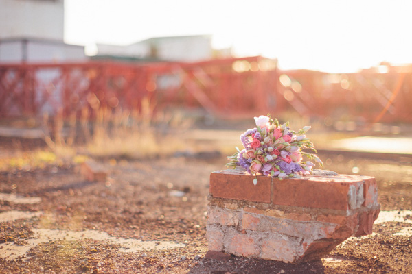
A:
POLYGON ((411 11, 409 0, 65 0, 65 42, 91 51, 96 43, 207 34, 236 57, 350 73, 412 63, 411 11))

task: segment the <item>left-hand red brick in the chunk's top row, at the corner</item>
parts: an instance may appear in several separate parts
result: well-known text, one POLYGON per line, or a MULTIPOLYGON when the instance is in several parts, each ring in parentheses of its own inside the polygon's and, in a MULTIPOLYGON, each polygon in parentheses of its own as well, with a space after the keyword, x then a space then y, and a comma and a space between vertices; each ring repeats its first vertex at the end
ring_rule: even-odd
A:
POLYGON ((214 198, 236 199, 270 203, 271 177, 244 175, 243 171, 215 171, 210 175, 210 194, 214 198))

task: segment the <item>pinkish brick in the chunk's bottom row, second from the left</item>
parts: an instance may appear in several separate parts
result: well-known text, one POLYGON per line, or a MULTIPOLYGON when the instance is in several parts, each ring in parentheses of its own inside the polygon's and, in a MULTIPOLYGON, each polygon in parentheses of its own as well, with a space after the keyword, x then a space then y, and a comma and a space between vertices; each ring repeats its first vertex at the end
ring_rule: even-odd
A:
POLYGON ((236 256, 258 257, 260 247, 258 239, 251 234, 229 233, 225 234, 225 251, 236 256))

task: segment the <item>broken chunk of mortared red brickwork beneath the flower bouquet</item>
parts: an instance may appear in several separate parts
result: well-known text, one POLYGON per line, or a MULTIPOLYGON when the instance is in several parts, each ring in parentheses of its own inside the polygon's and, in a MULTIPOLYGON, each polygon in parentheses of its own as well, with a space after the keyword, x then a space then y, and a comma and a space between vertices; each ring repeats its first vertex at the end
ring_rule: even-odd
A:
POLYGON ((321 258, 350 236, 371 234, 380 212, 374 177, 315 171, 300 179, 243 171, 210 175, 209 251, 283 262, 321 258))

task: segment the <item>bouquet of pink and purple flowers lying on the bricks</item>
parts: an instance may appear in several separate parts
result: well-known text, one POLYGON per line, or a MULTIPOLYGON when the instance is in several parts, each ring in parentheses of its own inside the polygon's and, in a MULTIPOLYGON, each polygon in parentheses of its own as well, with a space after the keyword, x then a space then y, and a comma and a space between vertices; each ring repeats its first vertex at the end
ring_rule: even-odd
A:
POLYGON ((309 149, 316 153, 316 149, 309 138, 304 135, 310 126, 300 129, 298 132, 290 130, 289 122, 279 125, 277 119, 268 116, 255 117, 256 127, 248 129, 240 136, 244 149, 229 156, 226 164, 233 169, 242 168, 250 175, 255 175, 253 184, 258 184, 257 175, 278 177, 299 177, 312 174, 315 165, 309 160, 322 161, 316 154, 306 153, 303 149, 309 149), (303 157, 309 160, 304 162, 303 157))

